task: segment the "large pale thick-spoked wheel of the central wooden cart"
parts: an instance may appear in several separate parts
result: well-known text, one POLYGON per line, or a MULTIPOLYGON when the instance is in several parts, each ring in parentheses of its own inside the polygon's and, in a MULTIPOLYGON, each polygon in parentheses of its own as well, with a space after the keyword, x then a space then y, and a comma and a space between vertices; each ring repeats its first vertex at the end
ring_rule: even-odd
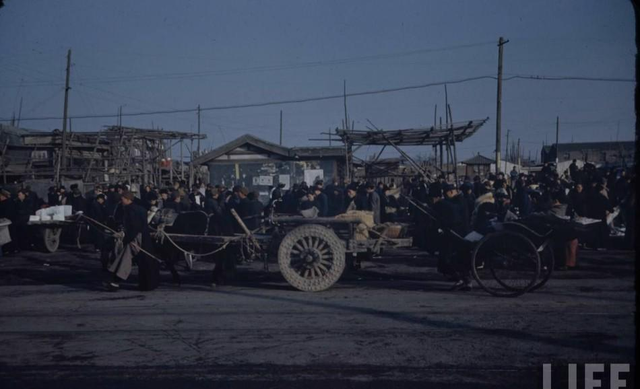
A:
POLYGON ((308 224, 289 232, 278 250, 280 272, 287 282, 305 292, 333 285, 345 268, 343 242, 330 229, 308 224))

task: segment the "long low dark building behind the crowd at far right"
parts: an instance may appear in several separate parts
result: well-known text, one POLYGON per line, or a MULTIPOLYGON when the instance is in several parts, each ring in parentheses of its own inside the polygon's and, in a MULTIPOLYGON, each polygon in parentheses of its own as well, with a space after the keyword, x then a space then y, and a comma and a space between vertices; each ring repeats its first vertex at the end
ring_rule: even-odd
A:
POLYGON ((635 160, 635 142, 581 142, 559 143, 544 146, 541 151, 542 163, 572 161, 574 159, 591 162, 596 166, 629 166, 635 160))

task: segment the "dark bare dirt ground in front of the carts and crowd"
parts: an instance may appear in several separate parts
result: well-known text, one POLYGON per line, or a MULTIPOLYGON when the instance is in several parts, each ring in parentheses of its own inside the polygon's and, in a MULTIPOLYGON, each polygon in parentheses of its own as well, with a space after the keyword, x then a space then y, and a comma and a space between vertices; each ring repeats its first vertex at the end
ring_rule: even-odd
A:
POLYGON ((634 253, 583 250, 510 299, 450 291, 435 263, 388 252, 304 293, 261 263, 212 289, 196 262, 109 293, 89 247, 3 257, 0 387, 541 388, 544 363, 635 365, 634 253))

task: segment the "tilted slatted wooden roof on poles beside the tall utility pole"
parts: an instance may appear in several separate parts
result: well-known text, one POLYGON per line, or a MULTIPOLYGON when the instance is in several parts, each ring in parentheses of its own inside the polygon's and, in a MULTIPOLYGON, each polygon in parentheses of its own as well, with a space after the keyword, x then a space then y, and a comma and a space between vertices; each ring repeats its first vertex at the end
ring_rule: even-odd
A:
POLYGON ((489 118, 452 123, 448 127, 431 126, 404 130, 336 130, 343 142, 352 145, 397 146, 438 145, 446 142, 453 133, 456 142, 462 142, 475 134, 489 118))

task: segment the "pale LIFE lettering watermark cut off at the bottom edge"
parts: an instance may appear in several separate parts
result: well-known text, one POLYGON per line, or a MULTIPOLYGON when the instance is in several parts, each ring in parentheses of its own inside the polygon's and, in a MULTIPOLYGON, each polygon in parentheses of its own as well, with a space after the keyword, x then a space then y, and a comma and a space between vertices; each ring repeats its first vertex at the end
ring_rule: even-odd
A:
POLYGON ((567 365, 567 375, 562 374, 563 379, 559 380, 562 382, 557 380, 554 382, 554 378, 560 374, 554 374, 558 373, 558 370, 552 369, 550 363, 545 363, 542 365, 542 389, 631 388, 627 386, 630 371, 628 363, 585 363, 584 365, 571 363, 567 365), (579 370, 583 373, 582 375, 579 374, 579 370), (579 382, 581 385, 578 385, 579 382))

